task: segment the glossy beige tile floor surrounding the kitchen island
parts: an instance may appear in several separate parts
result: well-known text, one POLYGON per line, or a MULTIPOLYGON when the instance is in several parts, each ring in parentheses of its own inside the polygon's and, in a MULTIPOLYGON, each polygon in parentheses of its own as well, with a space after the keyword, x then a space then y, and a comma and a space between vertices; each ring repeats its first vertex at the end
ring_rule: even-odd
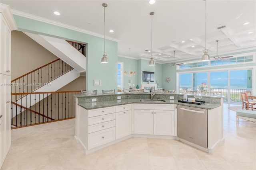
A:
POLYGON ((256 123, 240 122, 224 104, 225 144, 208 154, 176 140, 130 138, 85 155, 75 119, 12 130, 1 170, 256 170, 256 123))

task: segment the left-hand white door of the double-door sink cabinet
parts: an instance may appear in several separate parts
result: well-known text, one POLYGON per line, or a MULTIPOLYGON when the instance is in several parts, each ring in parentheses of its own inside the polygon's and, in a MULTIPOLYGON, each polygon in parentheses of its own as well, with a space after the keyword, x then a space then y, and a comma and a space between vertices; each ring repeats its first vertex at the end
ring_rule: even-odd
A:
POLYGON ((134 109, 134 133, 154 134, 154 111, 134 109))

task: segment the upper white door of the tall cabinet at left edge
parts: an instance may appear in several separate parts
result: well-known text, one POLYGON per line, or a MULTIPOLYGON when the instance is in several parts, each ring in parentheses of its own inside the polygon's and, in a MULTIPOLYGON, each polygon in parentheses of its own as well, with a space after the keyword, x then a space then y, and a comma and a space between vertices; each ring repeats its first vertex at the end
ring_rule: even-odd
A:
POLYGON ((0 73, 11 75, 11 30, 0 13, 0 73))

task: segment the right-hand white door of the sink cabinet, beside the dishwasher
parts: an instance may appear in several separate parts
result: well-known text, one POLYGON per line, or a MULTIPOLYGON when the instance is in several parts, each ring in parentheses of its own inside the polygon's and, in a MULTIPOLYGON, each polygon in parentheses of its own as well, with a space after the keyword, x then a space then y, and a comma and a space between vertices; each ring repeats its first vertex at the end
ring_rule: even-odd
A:
POLYGON ((154 135, 174 135, 174 111, 154 110, 154 135))

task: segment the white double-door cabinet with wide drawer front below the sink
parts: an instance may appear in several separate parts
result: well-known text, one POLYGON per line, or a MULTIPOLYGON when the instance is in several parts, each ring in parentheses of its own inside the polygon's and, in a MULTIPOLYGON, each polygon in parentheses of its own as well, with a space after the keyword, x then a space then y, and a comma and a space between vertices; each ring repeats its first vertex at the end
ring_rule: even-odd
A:
POLYGON ((134 133, 136 134, 174 135, 174 123, 173 104, 134 104, 134 133))

